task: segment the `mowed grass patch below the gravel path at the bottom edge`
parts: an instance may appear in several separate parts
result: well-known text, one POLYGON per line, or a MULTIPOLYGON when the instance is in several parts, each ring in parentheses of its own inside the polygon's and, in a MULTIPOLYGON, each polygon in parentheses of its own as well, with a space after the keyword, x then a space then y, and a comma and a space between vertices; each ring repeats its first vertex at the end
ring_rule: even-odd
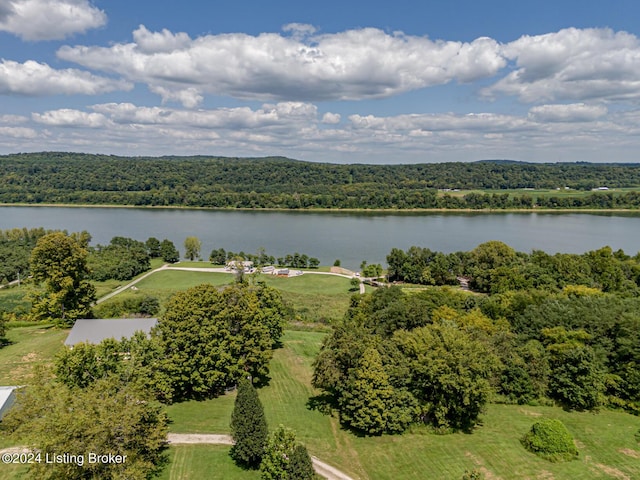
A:
POLYGON ((173 445, 160 480, 252 480, 260 473, 243 470, 229 457, 228 445, 173 445))

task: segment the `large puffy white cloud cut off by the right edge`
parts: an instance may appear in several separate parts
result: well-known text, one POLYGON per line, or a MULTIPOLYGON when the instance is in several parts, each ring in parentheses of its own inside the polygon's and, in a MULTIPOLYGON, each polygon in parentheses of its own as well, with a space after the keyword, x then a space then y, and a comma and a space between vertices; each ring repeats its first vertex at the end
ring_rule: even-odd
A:
POLYGON ((483 90, 523 102, 640 100, 640 41, 627 32, 568 28, 502 48, 516 69, 483 90))

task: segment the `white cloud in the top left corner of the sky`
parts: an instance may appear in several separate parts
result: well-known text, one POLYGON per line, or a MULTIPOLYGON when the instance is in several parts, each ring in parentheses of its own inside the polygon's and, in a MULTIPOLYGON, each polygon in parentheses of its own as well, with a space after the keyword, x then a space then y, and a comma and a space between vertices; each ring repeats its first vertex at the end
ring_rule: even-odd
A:
POLYGON ((0 30, 23 40, 60 40, 106 22, 88 0, 4 0, 0 7, 0 30))

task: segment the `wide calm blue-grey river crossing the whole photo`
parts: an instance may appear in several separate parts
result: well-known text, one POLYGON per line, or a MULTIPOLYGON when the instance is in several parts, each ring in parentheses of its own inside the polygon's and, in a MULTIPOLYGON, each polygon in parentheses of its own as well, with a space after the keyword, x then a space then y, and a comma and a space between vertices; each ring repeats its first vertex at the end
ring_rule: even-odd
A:
POLYGON ((609 245, 635 255, 640 250, 639 214, 587 213, 343 213, 217 211, 103 207, 0 207, 0 229, 87 230, 92 244, 114 236, 144 241, 202 241, 202 256, 213 248, 275 257, 305 253, 321 264, 340 259, 347 268, 362 260, 386 265, 393 247, 411 245, 442 252, 471 250, 500 240, 519 251, 583 253, 609 245))

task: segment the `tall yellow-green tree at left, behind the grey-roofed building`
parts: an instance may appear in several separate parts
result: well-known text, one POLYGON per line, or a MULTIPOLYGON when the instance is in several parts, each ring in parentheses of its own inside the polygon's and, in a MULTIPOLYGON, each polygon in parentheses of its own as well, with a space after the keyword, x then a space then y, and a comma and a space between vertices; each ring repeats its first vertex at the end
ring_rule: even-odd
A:
POLYGON ((31 294, 31 317, 61 325, 91 315, 96 290, 87 280, 87 250, 73 237, 54 232, 41 237, 30 258, 31 275, 44 291, 31 294))

